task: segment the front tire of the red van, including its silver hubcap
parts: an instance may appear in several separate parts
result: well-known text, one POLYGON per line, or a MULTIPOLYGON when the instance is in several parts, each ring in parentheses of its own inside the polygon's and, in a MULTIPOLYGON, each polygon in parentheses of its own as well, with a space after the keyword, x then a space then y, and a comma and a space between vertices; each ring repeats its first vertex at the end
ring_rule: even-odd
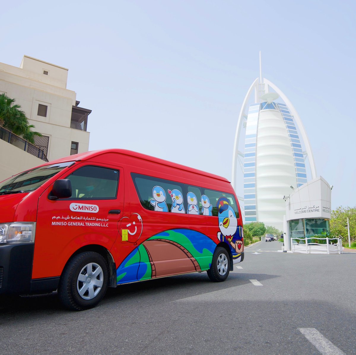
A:
POLYGON ((58 295, 64 307, 83 311, 96 306, 107 288, 106 260, 98 253, 83 252, 70 259, 64 268, 58 295))

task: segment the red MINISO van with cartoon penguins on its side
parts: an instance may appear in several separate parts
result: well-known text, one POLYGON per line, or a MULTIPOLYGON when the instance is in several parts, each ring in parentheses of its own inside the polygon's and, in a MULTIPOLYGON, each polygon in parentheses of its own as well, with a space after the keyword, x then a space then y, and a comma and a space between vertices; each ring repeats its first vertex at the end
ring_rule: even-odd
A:
POLYGON ((244 259, 229 181, 128 150, 65 157, 0 183, 0 294, 58 290, 74 310, 108 286, 244 259))

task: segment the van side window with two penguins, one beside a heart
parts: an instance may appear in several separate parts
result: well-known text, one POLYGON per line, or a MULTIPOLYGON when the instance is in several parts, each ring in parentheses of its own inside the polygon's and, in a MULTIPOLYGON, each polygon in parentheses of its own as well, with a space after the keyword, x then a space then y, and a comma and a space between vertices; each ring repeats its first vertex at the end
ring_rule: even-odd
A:
POLYGON ((131 177, 141 205, 147 210, 175 213, 187 212, 187 195, 184 184, 136 173, 131 173, 131 177))

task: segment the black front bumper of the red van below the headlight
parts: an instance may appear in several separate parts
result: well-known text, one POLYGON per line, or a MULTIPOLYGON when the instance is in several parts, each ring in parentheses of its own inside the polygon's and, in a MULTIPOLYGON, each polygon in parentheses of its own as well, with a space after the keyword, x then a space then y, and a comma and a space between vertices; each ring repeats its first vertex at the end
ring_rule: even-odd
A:
POLYGON ((0 294, 31 291, 34 243, 0 244, 0 294))

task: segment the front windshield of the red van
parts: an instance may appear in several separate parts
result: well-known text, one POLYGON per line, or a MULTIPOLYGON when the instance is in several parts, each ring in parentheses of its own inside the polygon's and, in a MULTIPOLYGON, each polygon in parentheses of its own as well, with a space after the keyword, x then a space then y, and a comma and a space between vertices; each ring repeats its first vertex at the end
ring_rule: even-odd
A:
POLYGON ((72 164, 74 164, 74 161, 51 164, 12 176, 0 183, 0 195, 36 190, 52 176, 72 164))

